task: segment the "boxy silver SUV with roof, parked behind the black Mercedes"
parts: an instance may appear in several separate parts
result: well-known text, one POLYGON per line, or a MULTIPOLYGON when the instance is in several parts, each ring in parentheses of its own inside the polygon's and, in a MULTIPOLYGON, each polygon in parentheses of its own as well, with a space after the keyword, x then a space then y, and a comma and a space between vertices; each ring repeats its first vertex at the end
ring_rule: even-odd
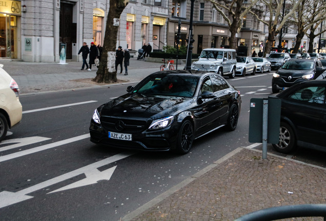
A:
POLYGON ((191 70, 215 72, 234 78, 236 63, 234 49, 209 48, 201 51, 199 60, 192 63, 191 70))

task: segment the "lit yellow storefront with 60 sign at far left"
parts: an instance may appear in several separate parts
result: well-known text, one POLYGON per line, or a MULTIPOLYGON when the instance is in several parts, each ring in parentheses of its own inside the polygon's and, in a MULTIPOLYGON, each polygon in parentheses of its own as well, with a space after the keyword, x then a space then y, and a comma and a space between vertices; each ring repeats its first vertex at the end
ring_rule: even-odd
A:
POLYGON ((18 36, 20 38, 20 1, 0 1, 0 57, 18 58, 18 36))

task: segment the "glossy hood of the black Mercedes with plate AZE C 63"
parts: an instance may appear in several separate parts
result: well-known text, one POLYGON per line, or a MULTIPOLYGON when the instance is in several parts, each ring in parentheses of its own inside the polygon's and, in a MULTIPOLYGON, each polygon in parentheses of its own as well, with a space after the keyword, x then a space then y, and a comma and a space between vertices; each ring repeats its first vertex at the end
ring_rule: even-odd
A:
POLYGON ((126 94, 98 108, 100 116, 159 119, 176 115, 192 106, 194 99, 126 94))

